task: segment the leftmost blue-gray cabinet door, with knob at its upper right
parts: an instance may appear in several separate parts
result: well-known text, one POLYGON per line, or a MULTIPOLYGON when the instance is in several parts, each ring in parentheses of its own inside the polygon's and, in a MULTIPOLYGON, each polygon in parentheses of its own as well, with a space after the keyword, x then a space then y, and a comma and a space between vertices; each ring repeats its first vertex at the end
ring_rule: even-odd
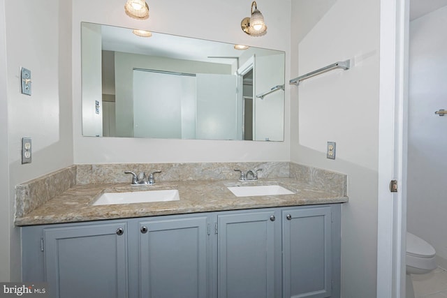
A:
POLYGON ((126 223, 45 228, 52 297, 127 297, 126 223))

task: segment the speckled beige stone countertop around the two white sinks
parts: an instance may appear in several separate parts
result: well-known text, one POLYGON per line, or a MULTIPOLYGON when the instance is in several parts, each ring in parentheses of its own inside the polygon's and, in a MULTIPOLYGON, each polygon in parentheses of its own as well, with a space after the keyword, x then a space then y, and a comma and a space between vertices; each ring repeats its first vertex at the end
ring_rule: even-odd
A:
MULTIPOLYGON (((228 165, 232 168, 234 165, 228 165)), ((265 174, 256 182, 237 182, 237 179, 184 179, 179 181, 157 181, 153 186, 131 186, 128 182, 90 184, 68 184, 66 190, 40 203, 31 204, 34 196, 45 193, 50 177, 17 186, 15 225, 40 225, 48 223, 71 223, 98 221, 115 218, 133 218, 168 214, 189 214, 207 211, 254 209, 265 207, 299 206, 307 204, 328 204, 347 202, 346 176, 324 170, 306 170, 309 167, 287 163, 286 174, 265 174), (292 169, 292 170, 291 170, 292 169), (307 174, 306 174, 307 173, 307 174), (289 176, 289 177, 281 177, 289 176), (47 181, 46 184, 41 181, 47 181), (43 186, 41 191, 33 191, 34 184, 43 186), (256 197, 236 197, 227 186, 280 185, 293 191, 293 195, 266 195, 256 197), (113 204, 93 206, 94 201, 105 192, 150 191, 177 189, 180 200, 170 202, 147 202, 136 204, 113 204), (31 209, 29 206, 33 205, 31 209)), ((264 165, 264 168, 267 168, 264 165)), ((271 167, 270 167, 271 168, 271 167)), ((282 168, 282 167, 281 167, 282 168)), ((74 171, 76 171, 75 169, 74 171)), ((85 171, 85 168, 83 169, 85 171)), ((221 170, 221 169, 220 169, 221 170)), ((233 169, 228 173, 235 175, 233 169)), ((271 172, 270 172, 271 173, 271 172)), ((59 173, 60 174, 60 173, 59 173)), ((64 173, 66 174, 66 173, 64 173)), ((68 168, 68 176, 73 179, 73 168, 68 168)), ((260 175, 261 176, 261 175, 260 175)), ((83 174, 85 177, 85 174, 83 174)), ((48 187, 47 187, 48 186, 48 187)), ((42 187, 41 187, 42 188, 42 187)), ((41 189, 39 188, 39 189, 41 189)), ((50 187, 51 188, 51 187, 50 187)), ((46 194, 46 193, 45 193, 46 194)))

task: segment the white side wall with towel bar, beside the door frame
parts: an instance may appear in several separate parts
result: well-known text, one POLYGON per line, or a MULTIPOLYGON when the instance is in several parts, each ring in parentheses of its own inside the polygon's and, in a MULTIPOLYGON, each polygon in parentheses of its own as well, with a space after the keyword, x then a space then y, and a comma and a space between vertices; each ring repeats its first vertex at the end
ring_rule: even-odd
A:
POLYGON ((292 61, 291 77, 345 59, 354 64, 291 89, 291 160, 348 174, 349 203, 342 207, 346 298, 376 297, 379 4, 316 1, 321 10, 312 15, 306 10, 309 1, 292 0, 292 31, 297 32, 291 52, 298 52, 298 59, 292 61), (337 143, 335 161, 326 158, 328 141, 337 143))

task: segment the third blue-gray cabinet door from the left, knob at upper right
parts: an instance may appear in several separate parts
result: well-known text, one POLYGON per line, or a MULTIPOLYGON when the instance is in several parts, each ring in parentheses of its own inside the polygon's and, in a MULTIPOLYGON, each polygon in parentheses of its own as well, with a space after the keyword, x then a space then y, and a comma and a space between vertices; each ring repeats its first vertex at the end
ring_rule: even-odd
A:
POLYGON ((274 297, 277 217, 274 211, 218 216, 219 298, 274 297))

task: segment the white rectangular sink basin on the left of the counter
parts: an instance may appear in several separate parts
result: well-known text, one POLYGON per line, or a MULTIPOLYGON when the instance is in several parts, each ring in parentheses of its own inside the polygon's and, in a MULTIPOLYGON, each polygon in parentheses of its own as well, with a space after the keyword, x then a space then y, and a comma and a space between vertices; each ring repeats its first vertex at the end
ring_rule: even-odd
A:
POLYGON ((177 189, 163 191, 131 191, 127 193, 103 193, 93 205, 132 204, 180 200, 177 189))

